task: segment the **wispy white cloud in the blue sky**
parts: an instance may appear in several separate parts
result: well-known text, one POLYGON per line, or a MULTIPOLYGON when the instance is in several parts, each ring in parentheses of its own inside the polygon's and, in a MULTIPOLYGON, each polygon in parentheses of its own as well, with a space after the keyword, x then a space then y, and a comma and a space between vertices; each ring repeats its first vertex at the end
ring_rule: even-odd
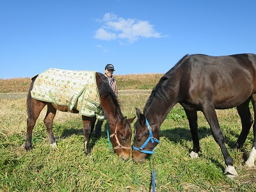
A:
POLYGON ((95 31, 94 36, 99 40, 122 39, 132 43, 139 38, 162 37, 147 20, 123 19, 113 13, 106 13, 100 21, 103 24, 95 31))

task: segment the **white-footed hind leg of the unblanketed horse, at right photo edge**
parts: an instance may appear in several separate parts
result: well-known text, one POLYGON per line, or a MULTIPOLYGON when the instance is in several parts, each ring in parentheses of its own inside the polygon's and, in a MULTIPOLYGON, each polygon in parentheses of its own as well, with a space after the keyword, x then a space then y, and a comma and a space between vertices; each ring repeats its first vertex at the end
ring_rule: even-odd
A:
MULTIPOLYGON (((254 110, 254 120, 256 119, 256 95, 253 94, 252 95, 252 106, 253 106, 253 110, 254 110)), ((252 150, 249 154, 249 157, 247 159, 247 161, 245 162, 245 164, 247 166, 254 166, 254 161, 256 159, 256 125, 255 122, 253 124, 253 146, 252 146, 252 150)))

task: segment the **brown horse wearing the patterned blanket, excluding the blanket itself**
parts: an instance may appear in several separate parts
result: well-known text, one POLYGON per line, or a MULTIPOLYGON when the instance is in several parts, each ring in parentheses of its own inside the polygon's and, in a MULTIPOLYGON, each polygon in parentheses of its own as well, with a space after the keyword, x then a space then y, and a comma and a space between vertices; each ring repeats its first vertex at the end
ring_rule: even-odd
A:
MULTIPOLYGON (((67 112, 67 106, 59 106, 53 102, 45 102, 41 100, 36 100, 31 97, 31 90, 33 89, 33 85, 35 83, 35 79, 38 76, 33 77, 32 83, 28 92, 27 99, 27 140, 25 143, 26 150, 29 150, 32 139, 32 130, 35 126, 36 120, 40 115, 40 112, 47 105, 47 113, 44 118, 44 124, 47 129, 47 135, 49 139, 49 143, 51 146, 56 146, 56 141, 54 139, 54 135, 52 134, 52 124, 54 116, 56 115, 56 111, 64 111, 67 112)), ((104 74, 100 74, 99 72, 95 73, 95 79, 97 83, 97 88, 99 90, 100 96, 100 105, 104 110, 104 114, 109 123, 109 132, 112 135, 110 141, 114 147, 114 150, 118 157, 123 159, 128 159, 131 155, 131 122, 134 118, 127 119, 122 115, 122 111, 118 104, 118 100, 115 97, 111 87, 109 86, 108 79, 104 76, 104 74), (115 135, 115 137, 113 136, 115 135)), ((71 109, 71 113, 79 113, 77 109, 71 109)), ((84 116, 82 115, 83 120, 83 132, 84 132, 84 152, 85 154, 90 154, 91 149, 89 146, 90 137, 95 125, 95 116, 84 116)))

